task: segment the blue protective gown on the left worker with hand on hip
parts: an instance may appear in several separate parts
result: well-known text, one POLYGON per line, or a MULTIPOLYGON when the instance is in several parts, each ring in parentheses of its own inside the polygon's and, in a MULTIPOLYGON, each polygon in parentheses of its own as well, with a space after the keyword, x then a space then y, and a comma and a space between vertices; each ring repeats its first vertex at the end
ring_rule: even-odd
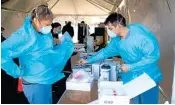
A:
POLYGON ((74 44, 65 33, 61 44, 53 45, 51 33, 36 32, 28 16, 24 25, 1 43, 1 67, 7 74, 22 77, 29 83, 53 84, 64 77, 61 72, 73 53, 74 44), (20 67, 12 60, 16 57, 20 67))

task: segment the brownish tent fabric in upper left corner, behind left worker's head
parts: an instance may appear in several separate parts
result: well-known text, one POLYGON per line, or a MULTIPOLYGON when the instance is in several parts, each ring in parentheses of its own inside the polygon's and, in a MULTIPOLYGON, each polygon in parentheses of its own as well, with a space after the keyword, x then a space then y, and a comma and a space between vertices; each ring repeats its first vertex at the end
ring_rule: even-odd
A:
POLYGON ((8 37, 20 28, 27 14, 47 1, 49 0, 9 0, 2 4, 1 26, 5 28, 4 36, 8 37))

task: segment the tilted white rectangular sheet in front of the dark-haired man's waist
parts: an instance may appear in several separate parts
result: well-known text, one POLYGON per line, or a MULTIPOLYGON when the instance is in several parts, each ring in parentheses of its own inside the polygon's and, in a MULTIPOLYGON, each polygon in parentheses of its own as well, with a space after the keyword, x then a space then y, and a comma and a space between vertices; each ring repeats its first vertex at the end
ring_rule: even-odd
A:
POLYGON ((141 76, 124 84, 125 91, 130 99, 146 92, 155 86, 156 83, 146 73, 143 73, 141 76))

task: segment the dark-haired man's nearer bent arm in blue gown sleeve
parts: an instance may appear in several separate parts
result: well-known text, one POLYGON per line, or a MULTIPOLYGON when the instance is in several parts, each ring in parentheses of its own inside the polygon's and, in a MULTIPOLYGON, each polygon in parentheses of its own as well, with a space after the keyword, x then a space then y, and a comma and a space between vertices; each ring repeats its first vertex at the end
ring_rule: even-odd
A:
POLYGON ((143 54, 143 57, 136 63, 128 64, 128 70, 145 68, 157 63, 160 58, 158 42, 154 37, 142 38, 142 40, 137 41, 137 43, 137 47, 143 54))

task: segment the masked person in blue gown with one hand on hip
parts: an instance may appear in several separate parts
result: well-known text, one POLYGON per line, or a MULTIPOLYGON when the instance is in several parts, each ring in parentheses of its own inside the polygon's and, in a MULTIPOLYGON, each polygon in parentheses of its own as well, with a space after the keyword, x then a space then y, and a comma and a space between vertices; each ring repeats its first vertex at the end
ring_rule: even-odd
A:
POLYGON ((38 6, 24 25, 1 44, 1 67, 7 74, 22 78, 30 104, 52 104, 52 84, 64 77, 61 71, 73 53, 68 33, 53 47, 52 20, 51 10, 38 6), (20 67, 12 60, 16 57, 20 67))

